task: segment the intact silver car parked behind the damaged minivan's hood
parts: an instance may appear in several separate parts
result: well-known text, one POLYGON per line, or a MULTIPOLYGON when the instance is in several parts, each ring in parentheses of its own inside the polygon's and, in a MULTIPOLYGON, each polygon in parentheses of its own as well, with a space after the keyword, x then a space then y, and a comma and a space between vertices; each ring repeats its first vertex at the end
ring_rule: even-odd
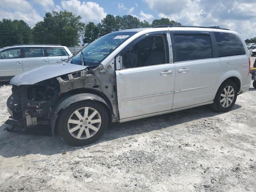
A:
POLYGON ((68 59, 72 53, 66 46, 20 44, 0 49, 0 80, 45 64, 68 59))

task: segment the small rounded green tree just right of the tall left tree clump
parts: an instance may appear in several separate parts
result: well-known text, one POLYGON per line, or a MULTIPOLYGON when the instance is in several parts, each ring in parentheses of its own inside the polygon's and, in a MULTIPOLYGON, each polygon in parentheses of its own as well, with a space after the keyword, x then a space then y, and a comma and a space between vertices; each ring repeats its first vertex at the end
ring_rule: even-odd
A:
POLYGON ((84 33, 84 43, 91 43, 96 40, 99 36, 100 30, 94 24, 94 22, 89 22, 85 26, 85 33, 84 33))

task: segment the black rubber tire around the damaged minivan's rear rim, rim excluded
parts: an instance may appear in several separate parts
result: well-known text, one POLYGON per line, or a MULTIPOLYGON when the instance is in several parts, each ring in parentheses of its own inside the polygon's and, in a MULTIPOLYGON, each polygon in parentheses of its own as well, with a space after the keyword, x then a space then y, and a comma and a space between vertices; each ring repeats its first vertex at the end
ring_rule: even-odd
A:
POLYGON ((238 92, 237 86, 232 80, 224 81, 220 85, 220 87, 219 87, 219 89, 216 93, 216 96, 214 98, 214 102, 212 103, 212 109, 216 112, 227 112, 227 111, 229 111, 234 106, 234 104, 236 102, 237 92, 238 92), (224 88, 227 87, 227 86, 232 86, 232 88, 234 88, 234 99, 233 99, 232 103, 230 104, 230 106, 223 107, 220 103, 220 95, 222 94, 222 91, 224 90, 224 88))

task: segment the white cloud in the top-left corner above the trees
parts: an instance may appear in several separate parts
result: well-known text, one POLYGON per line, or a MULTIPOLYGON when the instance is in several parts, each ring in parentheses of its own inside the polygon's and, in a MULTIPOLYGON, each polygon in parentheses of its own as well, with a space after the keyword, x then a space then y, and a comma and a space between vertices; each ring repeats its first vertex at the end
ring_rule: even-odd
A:
POLYGON ((43 18, 26 0, 1 0, 0 19, 24 20, 33 27, 43 18))

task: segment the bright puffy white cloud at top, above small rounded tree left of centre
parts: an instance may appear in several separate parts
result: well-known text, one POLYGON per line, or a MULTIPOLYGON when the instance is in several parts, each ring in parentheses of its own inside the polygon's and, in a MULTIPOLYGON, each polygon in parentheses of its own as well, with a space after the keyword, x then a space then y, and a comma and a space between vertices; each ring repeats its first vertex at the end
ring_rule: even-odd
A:
POLYGON ((90 1, 81 3, 79 0, 62 0, 60 7, 62 10, 82 16, 81 21, 85 23, 90 21, 100 22, 107 15, 104 8, 100 7, 98 3, 90 1))

